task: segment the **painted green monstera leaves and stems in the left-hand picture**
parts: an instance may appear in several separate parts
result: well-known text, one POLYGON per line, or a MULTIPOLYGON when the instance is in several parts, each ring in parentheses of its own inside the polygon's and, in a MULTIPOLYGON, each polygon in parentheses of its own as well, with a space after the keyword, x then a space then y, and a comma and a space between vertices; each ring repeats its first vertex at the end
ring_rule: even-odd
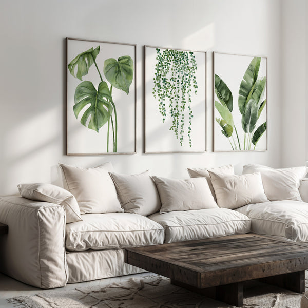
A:
POLYGON ((97 68, 100 76, 100 83, 96 89, 92 82, 82 81, 75 90, 73 111, 76 119, 78 115, 85 109, 81 124, 99 132, 99 129, 105 124, 107 129, 107 152, 109 152, 109 135, 110 123, 112 128, 113 138, 113 152, 118 151, 118 117, 117 108, 112 99, 113 87, 123 90, 127 95, 129 93, 129 86, 133 79, 133 60, 130 56, 124 55, 119 57, 118 61, 110 58, 104 61, 103 72, 107 82, 103 81, 102 74, 98 68, 97 58, 100 52, 100 46, 93 49, 90 48, 78 54, 69 64, 68 69, 74 78, 82 81, 82 77, 88 74, 92 64, 97 68), (89 105, 89 106, 88 106, 89 105))

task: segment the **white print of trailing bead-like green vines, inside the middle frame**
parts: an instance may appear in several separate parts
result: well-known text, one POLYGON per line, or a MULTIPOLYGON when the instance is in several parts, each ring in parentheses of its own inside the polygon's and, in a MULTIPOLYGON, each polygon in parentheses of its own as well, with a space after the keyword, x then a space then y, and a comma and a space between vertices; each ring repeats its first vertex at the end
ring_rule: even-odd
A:
POLYGON ((146 82, 146 112, 152 110, 151 117, 146 114, 146 130, 155 119, 153 124, 164 131, 160 141, 146 140, 146 152, 205 150, 205 126, 201 126, 205 124, 205 105, 201 105, 205 102, 205 55, 146 46, 146 78, 151 78, 151 87, 146 82), (158 150, 148 150, 155 144, 158 150))

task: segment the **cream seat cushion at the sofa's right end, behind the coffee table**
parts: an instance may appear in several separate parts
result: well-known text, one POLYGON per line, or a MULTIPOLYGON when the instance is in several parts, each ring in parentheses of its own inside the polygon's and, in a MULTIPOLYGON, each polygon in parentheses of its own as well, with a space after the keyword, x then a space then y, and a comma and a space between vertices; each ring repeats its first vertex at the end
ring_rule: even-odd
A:
POLYGON ((308 203, 281 200, 248 204, 237 209, 252 220, 252 232, 308 242, 308 203))

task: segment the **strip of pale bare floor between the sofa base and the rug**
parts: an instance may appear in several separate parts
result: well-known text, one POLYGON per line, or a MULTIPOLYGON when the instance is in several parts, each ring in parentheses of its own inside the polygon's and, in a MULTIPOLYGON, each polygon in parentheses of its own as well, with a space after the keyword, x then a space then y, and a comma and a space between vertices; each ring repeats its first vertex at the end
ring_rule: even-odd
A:
MULTIPOLYGON (((121 277, 106 278, 101 280, 94 280, 81 283, 70 283, 64 287, 52 289, 52 291, 64 291, 70 290, 76 287, 93 287, 101 288, 113 282, 122 282, 130 279, 131 277, 142 277, 148 276, 150 273, 142 273, 135 275, 127 275, 121 277)), ((36 293, 50 292, 50 290, 42 290, 22 282, 19 282, 13 278, 10 278, 0 273, 0 307, 14 307, 13 304, 7 302, 8 298, 21 296, 21 295, 32 295, 36 293)))

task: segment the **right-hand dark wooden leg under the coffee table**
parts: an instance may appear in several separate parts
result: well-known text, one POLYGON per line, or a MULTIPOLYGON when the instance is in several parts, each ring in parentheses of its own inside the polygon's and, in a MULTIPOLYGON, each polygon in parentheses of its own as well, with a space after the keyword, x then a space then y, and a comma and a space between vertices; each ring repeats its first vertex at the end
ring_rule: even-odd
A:
POLYGON ((260 279, 260 281, 274 284, 297 293, 305 292, 305 271, 265 277, 260 279))

